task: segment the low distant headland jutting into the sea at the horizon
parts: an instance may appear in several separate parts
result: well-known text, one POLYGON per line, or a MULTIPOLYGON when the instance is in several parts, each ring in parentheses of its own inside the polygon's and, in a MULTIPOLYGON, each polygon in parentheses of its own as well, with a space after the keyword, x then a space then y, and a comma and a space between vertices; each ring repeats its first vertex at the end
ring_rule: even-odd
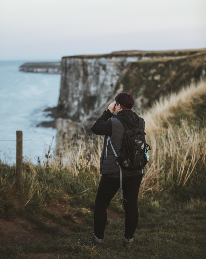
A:
POLYGON ((19 71, 30 73, 61 74, 61 62, 32 62, 24 63, 19 71))

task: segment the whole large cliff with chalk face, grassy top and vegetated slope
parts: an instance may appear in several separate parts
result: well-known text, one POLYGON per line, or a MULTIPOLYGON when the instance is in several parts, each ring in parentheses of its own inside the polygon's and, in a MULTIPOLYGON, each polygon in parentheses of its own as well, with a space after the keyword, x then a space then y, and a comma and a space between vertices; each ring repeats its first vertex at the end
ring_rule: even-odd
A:
POLYGON ((56 111, 68 123, 58 120, 64 125, 57 125, 60 135, 70 135, 71 125, 72 132, 76 125, 76 133, 82 132, 81 126, 91 133, 91 125, 118 92, 131 92, 133 110, 141 113, 160 96, 204 78, 206 49, 68 56, 62 58, 61 69, 56 111))

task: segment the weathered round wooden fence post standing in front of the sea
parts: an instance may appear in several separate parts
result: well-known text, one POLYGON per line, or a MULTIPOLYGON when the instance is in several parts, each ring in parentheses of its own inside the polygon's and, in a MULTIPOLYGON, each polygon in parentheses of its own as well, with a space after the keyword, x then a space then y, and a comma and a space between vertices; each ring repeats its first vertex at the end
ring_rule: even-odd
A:
POLYGON ((23 133, 20 130, 16 131, 16 186, 17 189, 22 189, 23 177, 23 133))

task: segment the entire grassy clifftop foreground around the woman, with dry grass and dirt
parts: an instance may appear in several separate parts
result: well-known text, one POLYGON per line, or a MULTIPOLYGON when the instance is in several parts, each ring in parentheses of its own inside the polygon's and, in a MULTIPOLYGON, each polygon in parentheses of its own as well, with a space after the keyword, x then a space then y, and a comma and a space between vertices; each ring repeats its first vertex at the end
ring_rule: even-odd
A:
POLYGON ((142 183, 129 251, 122 248, 118 193, 108 208, 104 248, 84 246, 94 230, 102 138, 79 136, 54 157, 48 150, 44 161, 24 161, 22 191, 15 187, 16 166, 0 161, 0 258, 206 258, 206 110, 198 113, 205 96, 205 82, 191 85, 142 115, 152 146, 148 203, 142 183))

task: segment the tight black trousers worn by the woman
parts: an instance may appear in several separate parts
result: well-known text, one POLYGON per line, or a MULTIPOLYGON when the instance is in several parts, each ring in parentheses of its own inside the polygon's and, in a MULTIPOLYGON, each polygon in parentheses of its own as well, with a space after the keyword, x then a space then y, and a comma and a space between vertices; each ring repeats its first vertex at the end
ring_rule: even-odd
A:
MULTIPOLYGON (((125 238, 133 238, 139 212, 137 199, 142 175, 128 176, 122 178, 123 200, 125 209, 125 238)), ((104 230, 107 223, 107 207, 111 199, 120 188, 120 179, 102 175, 95 199, 94 208, 94 235, 98 239, 104 238, 104 230)))

